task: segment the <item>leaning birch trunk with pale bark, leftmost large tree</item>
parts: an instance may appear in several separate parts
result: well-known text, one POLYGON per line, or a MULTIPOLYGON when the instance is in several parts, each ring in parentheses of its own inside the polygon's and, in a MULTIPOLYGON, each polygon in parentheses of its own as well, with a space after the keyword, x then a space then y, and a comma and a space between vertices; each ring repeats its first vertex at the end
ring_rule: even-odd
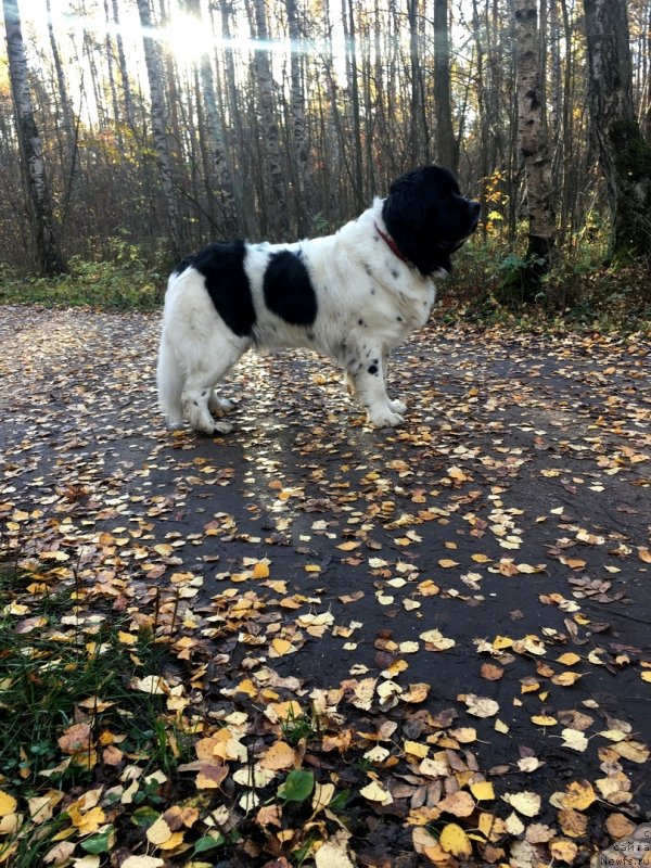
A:
POLYGON ((21 145, 22 168, 31 204, 36 250, 42 273, 60 275, 66 268, 61 252, 59 227, 54 219, 41 140, 34 119, 21 13, 16 0, 2 0, 2 7, 16 132, 21 145))

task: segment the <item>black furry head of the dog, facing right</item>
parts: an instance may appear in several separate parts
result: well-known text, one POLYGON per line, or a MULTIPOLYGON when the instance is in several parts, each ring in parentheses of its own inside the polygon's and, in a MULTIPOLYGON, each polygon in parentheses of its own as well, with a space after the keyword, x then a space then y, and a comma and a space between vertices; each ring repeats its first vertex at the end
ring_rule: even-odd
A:
POLYGON ((464 199, 439 166, 421 166, 391 186, 382 218, 398 250, 423 275, 450 271, 450 256, 477 228, 480 203, 464 199))

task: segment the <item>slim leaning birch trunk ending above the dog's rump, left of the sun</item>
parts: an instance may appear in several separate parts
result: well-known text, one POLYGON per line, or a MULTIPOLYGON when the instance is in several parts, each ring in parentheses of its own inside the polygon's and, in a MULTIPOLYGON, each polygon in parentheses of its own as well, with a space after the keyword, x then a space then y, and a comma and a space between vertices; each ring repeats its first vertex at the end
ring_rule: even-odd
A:
POLYGON ((169 227, 169 238, 171 241, 175 256, 180 256, 183 251, 181 226, 176 199, 176 190, 171 174, 171 156, 167 142, 167 123, 165 112, 165 99, 163 93, 162 69, 158 58, 156 40, 149 34, 152 31, 152 15, 149 0, 138 0, 138 12, 140 14, 140 25, 142 27, 142 44, 144 48, 144 62, 146 66, 146 77, 150 87, 152 132, 154 138, 154 149, 156 159, 161 169, 161 183, 163 195, 167 206, 167 221, 169 227))

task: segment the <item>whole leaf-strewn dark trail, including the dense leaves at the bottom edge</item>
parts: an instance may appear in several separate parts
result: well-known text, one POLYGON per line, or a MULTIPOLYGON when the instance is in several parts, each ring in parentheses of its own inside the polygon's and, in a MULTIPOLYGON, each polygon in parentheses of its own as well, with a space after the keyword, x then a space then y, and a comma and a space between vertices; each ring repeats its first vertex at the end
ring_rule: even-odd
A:
POLYGON ((102 865, 219 833, 206 865, 580 866, 651 818, 646 339, 430 327, 391 431, 330 362, 250 355, 212 439, 163 426, 158 329, 0 311, 5 554, 77 634, 153 629, 201 722, 161 808, 192 828, 120 841, 126 802, 102 865))

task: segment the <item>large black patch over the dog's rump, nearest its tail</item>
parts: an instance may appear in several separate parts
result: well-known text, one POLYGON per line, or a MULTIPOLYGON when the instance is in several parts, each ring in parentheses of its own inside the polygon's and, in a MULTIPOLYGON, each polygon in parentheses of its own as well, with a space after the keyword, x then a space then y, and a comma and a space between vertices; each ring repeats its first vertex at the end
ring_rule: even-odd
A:
POLYGON ((183 259, 177 270, 192 266, 203 275, 215 309, 238 337, 247 337, 256 322, 248 278, 244 271, 246 245, 208 244, 195 256, 183 259))

